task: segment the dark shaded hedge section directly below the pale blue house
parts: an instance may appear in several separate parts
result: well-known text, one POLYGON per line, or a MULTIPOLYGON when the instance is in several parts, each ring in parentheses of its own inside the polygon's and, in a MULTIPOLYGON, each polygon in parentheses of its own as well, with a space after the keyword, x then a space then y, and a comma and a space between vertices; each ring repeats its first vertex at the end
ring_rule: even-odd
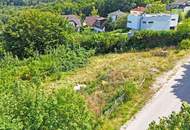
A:
POLYGON ((176 46, 181 37, 175 31, 139 31, 127 43, 128 50, 176 46))

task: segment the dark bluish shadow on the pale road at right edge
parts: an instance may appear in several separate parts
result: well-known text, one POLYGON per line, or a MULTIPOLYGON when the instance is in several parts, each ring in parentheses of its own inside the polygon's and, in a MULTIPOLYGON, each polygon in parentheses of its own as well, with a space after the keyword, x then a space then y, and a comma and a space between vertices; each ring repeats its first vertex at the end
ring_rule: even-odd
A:
POLYGON ((177 79, 177 84, 172 86, 173 93, 181 100, 190 103, 190 64, 184 65, 182 78, 177 79))

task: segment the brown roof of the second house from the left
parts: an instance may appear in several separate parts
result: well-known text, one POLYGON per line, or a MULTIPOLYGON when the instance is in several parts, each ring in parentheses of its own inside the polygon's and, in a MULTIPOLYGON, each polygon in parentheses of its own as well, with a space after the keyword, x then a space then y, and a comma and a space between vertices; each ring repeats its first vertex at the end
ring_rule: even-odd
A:
POLYGON ((84 20, 84 22, 86 23, 87 26, 94 26, 94 24, 96 23, 96 21, 102 21, 102 20, 106 20, 106 18, 104 17, 99 17, 99 16, 88 16, 86 17, 86 19, 84 20))

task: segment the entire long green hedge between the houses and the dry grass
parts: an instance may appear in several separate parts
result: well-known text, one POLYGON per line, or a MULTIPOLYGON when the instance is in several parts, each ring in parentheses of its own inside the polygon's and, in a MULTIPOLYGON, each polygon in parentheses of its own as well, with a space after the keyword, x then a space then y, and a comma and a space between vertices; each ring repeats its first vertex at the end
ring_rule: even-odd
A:
POLYGON ((85 33, 74 37, 85 49, 95 49, 96 54, 146 50, 156 47, 178 46, 189 33, 181 31, 138 31, 128 38, 126 33, 85 33))

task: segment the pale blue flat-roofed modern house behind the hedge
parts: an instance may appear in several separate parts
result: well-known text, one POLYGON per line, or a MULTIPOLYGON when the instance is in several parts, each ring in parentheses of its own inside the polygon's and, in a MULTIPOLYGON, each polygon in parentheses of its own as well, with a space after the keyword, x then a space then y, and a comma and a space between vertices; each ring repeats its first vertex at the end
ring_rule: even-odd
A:
POLYGON ((178 18, 178 14, 130 14, 127 27, 132 30, 170 30, 177 27, 178 18))

